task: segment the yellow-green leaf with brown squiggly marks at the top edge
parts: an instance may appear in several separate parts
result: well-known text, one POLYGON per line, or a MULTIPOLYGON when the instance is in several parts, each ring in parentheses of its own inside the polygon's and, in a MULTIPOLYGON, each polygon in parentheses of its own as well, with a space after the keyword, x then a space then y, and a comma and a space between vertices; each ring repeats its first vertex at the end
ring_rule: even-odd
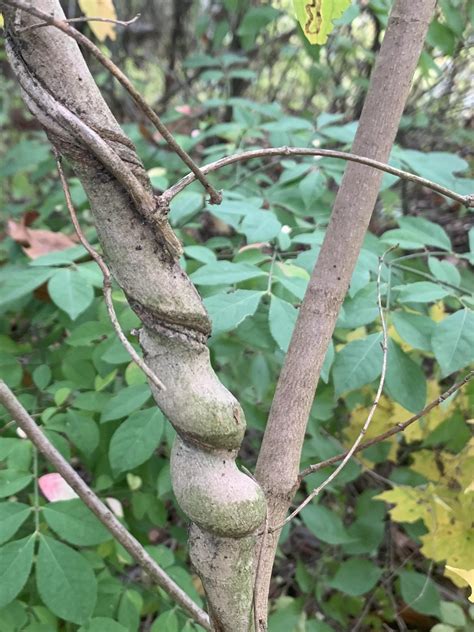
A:
POLYGON ((311 44, 325 44, 334 29, 333 20, 340 18, 351 0, 293 0, 296 17, 311 44))

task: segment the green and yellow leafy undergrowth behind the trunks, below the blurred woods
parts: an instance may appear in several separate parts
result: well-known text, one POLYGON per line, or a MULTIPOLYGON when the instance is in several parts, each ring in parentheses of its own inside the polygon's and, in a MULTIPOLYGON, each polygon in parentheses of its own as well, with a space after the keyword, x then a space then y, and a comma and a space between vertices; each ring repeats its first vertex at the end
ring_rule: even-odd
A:
MULTIPOLYGON (((183 175, 179 161, 150 142, 143 127, 125 127, 157 191, 183 175)), ((344 149, 354 130, 337 115, 313 124, 276 103, 236 97, 208 101, 196 133, 177 138, 205 162, 262 144, 344 149), (231 121, 219 120, 222 106, 232 109, 231 121)), ((392 163, 458 193, 472 189, 467 162, 453 153, 396 146, 392 163)), ((182 266, 213 322, 214 366, 246 413, 241 458, 248 467, 343 170, 334 159, 254 159, 213 176, 224 191, 221 206, 209 206, 197 184, 172 203, 182 266)), ((22 135, 0 177, 11 220, 0 244, 0 376, 202 605, 202 587, 187 564, 187 526, 170 485, 174 431, 114 335, 100 272, 72 237, 45 138, 22 135)), ((71 188, 94 242, 85 194, 74 178, 71 188)), ((324 363, 302 468, 350 447, 373 401, 382 367, 376 276, 389 247, 396 249, 387 256, 381 287, 388 371, 367 438, 418 413, 473 360, 474 230, 454 247, 448 232, 416 209, 448 211, 468 223, 467 211, 412 184, 408 190, 406 205, 406 190, 385 176, 379 215, 386 228, 364 242, 324 363)), ((138 350, 133 331, 140 323, 119 288, 114 303, 138 350)), ((473 400, 471 382, 403 434, 362 452, 284 529, 271 632, 473 628, 466 589, 474 567, 473 400)), ((1 632, 197 629, 71 497, 8 415, 1 421, 1 632)), ((331 471, 309 475, 297 500, 331 471)))

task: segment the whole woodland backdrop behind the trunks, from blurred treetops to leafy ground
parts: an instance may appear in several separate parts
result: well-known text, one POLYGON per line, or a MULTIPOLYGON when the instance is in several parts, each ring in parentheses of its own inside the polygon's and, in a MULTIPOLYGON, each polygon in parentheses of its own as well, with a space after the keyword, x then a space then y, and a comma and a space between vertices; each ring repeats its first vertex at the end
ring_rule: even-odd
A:
MULTIPOLYGON (((97 13, 89 4, 90 14, 97 13)), ((290 2, 114 5, 120 19, 141 17, 127 27, 77 28, 110 54, 199 164, 262 146, 350 150, 389 2, 354 2, 321 46, 305 40, 290 2)), ((63 7, 71 18, 82 15, 74 1, 63 7)), ((391 156, 392 165, 461 195, 473 190, 472 24, 470 3, 438 3, 391 156)), ((115 80, 85 56, 156 191, 166 189, 187 173, 185 165, 115 80)), ((187 562, 187 522, 170 485, 174 431, 151 407, 144 375, 116 339, 102 275, 77 244, 54 157, 21 102, 3 51, 0 71, 0 377, 202 605, 202 587, 187 562)), ((208 204, 198 183, 172 202, 182 265, 213 322, 213 365, 245 411, 240 458, 252 471, 344 167, 333 158, 256 158, 213 176, 224 192, 220 206, 208 204)), ((96 243, 85 193, 77 179, 70 185, 83 230, 96 243)), ((381 291, 388 369, 366 438, 418 414, 467 375, 474 348, 472 225, 461 204, 384 177, 326 357, 302 469, 349 448, 365 421, 382 367, 381 291), (380 290, 379 258, 392 246, 380 290)), ((138 349, 140 322, 118 288, 113 299, 138 349)), ((403 436, 364 450, 284 528, 271 632, 474 629, 466 589, 474 568, 473 401, 471 381, 403 436)), ((11 576, 0 578, 1 632, 196 629, 69 490, 57 488, 54 468, 1 410, 0 543, 21 541, 38 521, 58 567, 75 549, 82 561, 74 573, 97 579, 94 595, 90 586, 68 593, 60 575, 42 576, 39 564, 30 573, 28 556, 20 558, 18 590, 11 576), (68 617, 84 609, 87 620, 68 617)), ((307 476, 297 500, 331 471, 307 476)))

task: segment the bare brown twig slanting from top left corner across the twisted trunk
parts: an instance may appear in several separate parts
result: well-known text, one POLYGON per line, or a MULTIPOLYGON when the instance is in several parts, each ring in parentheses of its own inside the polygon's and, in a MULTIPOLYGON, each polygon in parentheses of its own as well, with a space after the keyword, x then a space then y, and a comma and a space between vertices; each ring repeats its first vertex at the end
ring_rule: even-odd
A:
POLYGON ((24 2, 23 0, 3 0, 5 4, 26 11, 30 15, 43 20, 50 26, 54 26, 69 37, 72 37, 79 44, 87 48, 87 50, 105 67, 107 70, 122 84, 127 90, 132 99, 138 105, 138 107, 146 114, 150 121, 155 125, 157 130, 163 136, 169 147, 181 158, 181 160, 191 169, 194 177, 201 182, 203 187, 209 193, 211 204, 220 204, 222 201, 222 194, 216 191, 214 187, 209 183, 204 173, 194 162, 191 156, 184 151, 184 149, 176 142, 171 132, 161 121, 160 117, 153 109, 148 105, 142 95, 134 87, 130 79, 120 70, 118 66, 114 64, 108 57, 106 57, 102 51, 85 35, 80 31, 77 31, 74 27, 70 26, 67 21, 58 20, 55 17, 48 15, 44 11, 40 11, 36 7, 24 2))

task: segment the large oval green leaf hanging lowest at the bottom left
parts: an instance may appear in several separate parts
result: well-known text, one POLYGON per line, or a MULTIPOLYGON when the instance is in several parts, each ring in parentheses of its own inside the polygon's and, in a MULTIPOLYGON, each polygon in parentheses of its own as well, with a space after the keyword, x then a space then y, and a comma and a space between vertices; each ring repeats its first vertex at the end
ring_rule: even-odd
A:
POLYGON ((97 581, 89 562, 45 535, 36 561, 36 584, 45 606, 66 621, 85 623, 94 611, 97 581))

